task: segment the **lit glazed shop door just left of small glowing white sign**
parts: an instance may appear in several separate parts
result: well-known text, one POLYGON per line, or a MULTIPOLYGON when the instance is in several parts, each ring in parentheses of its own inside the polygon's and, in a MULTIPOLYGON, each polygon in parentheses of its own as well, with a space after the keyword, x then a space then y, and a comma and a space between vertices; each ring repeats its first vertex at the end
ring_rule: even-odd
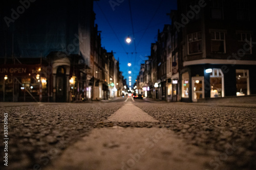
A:
POLYGON ((192 101, 204 99, 204 77, 192 77, 192 101))

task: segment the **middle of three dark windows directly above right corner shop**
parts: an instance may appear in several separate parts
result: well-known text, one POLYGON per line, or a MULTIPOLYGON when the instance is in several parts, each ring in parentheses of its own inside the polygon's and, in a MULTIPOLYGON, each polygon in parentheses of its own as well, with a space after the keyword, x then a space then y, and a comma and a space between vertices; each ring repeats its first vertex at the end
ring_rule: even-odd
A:
POLYGON ((211 52, 212 53, 226 53, 225 33, 211 32, 211 52))

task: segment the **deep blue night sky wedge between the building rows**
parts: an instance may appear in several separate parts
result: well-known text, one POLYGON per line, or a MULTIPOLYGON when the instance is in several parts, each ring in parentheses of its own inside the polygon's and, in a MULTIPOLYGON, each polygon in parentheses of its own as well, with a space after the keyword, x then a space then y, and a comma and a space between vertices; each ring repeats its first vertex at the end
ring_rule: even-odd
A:
POLYGON ((128 0, 113 0, 121 2, 116 6, 111 6, 109 0, 94 2, 94 12, 96 13, 95 23, 101 32, 101 44, 108 52, 115 53, 115 59, 120 62, 120 71, 129 84, 129 76, 132 76, 132 85, 139 74, 140 64, 144 63, 145 56, 151 53, 151 43, 156 42, 158 29, 163 30, 164 24, 170 24, 171 20, 167 13, 177 9, 176 0, 130 0, 134 25, 131 22, 130 8, 128 0), (113 10, 114 9, 114 10, 113 10), (127 36, 132 38, 132 42, 127 44, 127 36), (137 55, 135 54, 135 44, 137 55), (127 54, 128 53, 128 54, 127 54), (132 54, 133 53, 133 54, 132 54), (129 68, 127 63, 131 62, 129 68), (131 70, 132 74, 128 74, 131 70))

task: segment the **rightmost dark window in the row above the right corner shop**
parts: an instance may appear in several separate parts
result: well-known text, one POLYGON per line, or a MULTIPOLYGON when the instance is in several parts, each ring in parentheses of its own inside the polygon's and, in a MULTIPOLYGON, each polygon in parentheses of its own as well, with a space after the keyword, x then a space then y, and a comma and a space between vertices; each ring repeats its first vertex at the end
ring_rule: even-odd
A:
POLYGON ((237 33, 237 40, 239 44, 238 53, 252 54, 252 41, 250 33, 237 33))

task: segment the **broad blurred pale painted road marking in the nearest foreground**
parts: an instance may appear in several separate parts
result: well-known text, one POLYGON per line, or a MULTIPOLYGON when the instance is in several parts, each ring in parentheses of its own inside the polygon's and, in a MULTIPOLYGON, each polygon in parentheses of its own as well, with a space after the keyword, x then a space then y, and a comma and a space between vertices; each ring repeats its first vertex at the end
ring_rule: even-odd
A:
POLYGON ((206 154, 165 128, 96 128, 46 170, 201 170, 216 156, 217 152, 206 154))

